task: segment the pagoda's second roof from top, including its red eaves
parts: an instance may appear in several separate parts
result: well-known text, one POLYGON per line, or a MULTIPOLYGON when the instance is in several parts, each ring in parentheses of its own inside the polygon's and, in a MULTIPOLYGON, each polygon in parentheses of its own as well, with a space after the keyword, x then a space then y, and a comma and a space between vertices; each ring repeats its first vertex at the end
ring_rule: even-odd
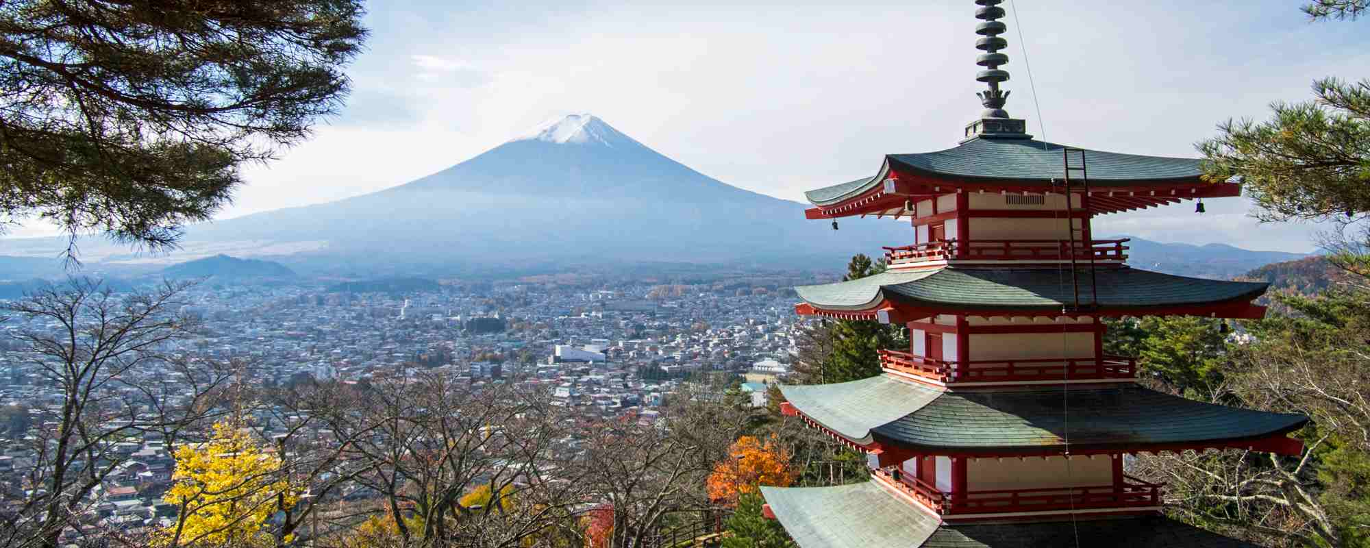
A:
POLYGON ((904 323, 940 314, 1200 315, 1259 319, 1269 284, 1110 269, 941 267, 795 288, 803 315, 904 323))

